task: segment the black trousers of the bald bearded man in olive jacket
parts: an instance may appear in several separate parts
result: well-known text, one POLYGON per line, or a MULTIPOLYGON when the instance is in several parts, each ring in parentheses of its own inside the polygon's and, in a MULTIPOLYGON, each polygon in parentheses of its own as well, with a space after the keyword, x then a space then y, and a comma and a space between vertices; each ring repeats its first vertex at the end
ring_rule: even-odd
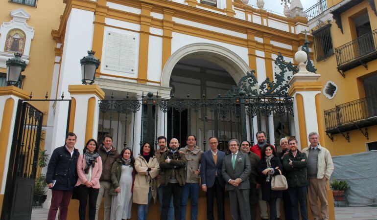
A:
POLYGON ((160 220, 167 220, 171 195, 173 195, 175 220, 181 220, 182 191, 183 186, 180 186, 179 183, 168 183, 166 186, 163 186, 163 209, 161 212, 160 220))

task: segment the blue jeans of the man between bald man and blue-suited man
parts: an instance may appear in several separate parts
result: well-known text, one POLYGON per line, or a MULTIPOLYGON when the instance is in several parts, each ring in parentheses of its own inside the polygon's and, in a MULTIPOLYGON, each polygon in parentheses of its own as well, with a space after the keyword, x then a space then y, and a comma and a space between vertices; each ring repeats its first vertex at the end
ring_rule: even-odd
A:
POLYGON ((198 219, 199 184, 186 183, 182 192, 182 220, 186 219, 186 206, 188 196, 191 197, 191 220, 198 219))

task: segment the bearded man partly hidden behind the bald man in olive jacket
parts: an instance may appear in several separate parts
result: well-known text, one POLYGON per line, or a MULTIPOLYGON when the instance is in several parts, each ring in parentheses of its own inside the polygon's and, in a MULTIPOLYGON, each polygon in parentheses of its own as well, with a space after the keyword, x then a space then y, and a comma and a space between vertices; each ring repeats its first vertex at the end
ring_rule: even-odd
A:
MULTIPOLYGON (((158 161, 160 161, 161 155, 164 154, 166 151, 168 151, 166 146, 166 137, 165 136, 159 136, 157 138, 157 142, 159 145, 159 149, 156 151, 156 158, 158 161)), ((161 185, 161 170, 160 175, 157 176, 158 178, 158 197, 160 202, 160 213, 163 209, 163 186, 161 185)), ((174 206, 173 206, 173 197, 171 197, 170 205, 169 205, 169 212, 167 214, 167 220, 174 220, 174 206)))

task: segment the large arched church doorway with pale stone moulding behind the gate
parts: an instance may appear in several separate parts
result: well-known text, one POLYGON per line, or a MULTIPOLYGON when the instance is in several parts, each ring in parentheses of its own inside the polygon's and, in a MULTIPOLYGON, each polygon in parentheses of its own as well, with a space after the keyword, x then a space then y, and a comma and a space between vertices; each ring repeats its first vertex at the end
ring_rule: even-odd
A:
POLYGON ((171 102, 176 105, 166 112, 168 139, 176 137, 185 146, 187 135, 194 134, 197 144, 206 150, 210 136, 218 136, 221 147, 230 138, 240 138, 239 104, 229 98, 225 106, 219 97, 236 86, 248 71, 245 61, 218 45, 190 44, 177 50, 168 59, 161 81, 165 85, 169 77, 171 102))

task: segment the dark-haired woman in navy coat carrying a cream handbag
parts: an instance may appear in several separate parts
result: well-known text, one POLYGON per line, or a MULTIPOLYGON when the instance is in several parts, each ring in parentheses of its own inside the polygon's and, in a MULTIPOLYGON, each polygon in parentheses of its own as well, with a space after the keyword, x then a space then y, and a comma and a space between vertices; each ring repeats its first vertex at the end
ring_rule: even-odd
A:
POLYGON ((283 191, 271 190, 272 176, 279 175, 283 171, 282 163, 276 154, 275 148, 266 144, 261 150, 261 159, 258 164, 259 184, 262 189, 262 199, 270 206, 270 220, 277 220, 276 199, 283 196, 283 191))

